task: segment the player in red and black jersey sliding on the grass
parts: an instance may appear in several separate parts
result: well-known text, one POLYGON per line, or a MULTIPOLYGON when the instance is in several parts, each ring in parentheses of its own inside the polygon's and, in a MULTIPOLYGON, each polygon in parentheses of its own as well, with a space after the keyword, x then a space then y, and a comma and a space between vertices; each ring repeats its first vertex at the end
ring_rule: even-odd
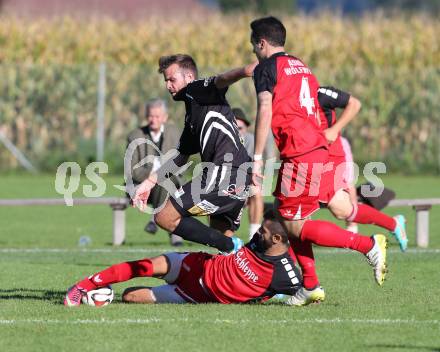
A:
POLYGON ((167 284, 132 287, 122 299, 132 303, 264 302, 275 294, 294 295, 301 276, 287 234, 266 219, 252 240, 233 255, 167 253, 113 265, 72 286, 64 304, 79 306, 90 290, 135 277, 161 278, 167 284))

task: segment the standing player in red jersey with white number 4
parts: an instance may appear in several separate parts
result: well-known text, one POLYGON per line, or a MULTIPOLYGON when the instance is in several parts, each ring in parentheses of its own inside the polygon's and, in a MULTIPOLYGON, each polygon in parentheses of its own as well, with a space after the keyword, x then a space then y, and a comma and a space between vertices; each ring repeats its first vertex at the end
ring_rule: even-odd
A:
POLYGON ((382 285, 386 273, 385 236, 361 236, 309 218, 319 209, 320 177, 328 161, 316 77, 300 59, 285 53, 286 29, 278 19, 257 19, 251 29, 251 43, 259 60, 254 70, 258 111, 253 183, 261 184, 262 152, 271 128, 282 159, 274 192, 277 216, 289 235, 304 280, 304 289, 290 303, 304 305, 325 298, 317 281, 312 243, 365 254, 374 268, 376 282, 382 285))

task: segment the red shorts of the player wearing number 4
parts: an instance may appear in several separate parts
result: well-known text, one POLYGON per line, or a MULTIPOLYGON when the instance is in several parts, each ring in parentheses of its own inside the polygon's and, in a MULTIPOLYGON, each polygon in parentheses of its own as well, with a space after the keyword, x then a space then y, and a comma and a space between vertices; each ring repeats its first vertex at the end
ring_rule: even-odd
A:
POLYGON ((273 195, 283 218, 301 220, 319 209, 321 174, 327 161, 324 148, 282 161, 273 195))

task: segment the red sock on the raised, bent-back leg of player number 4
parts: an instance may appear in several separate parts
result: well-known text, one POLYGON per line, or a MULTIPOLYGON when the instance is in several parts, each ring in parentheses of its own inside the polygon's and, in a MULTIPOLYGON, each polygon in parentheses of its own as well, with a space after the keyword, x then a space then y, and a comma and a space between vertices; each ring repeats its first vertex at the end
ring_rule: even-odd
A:
POLYGON ((331 222, 321 220, 306 221, 301 231, 301 240, 323 247, 349 248, 363 254, 368 253, 374 245, 370 237, 343 230, 331 222))

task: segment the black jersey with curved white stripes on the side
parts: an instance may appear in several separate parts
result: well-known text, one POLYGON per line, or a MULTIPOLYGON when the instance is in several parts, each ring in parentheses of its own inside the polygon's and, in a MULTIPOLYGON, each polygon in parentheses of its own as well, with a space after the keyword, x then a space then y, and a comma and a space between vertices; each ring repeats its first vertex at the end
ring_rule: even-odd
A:
POLYGON ((177 147, 181 154, 200 153, 202 162, 227 162, 233 167, 251 161, 226 91, 227 88, 218 89, 214 77, 210 77, 191 82, 174 96, 186 107, 185 126, 177 147))

